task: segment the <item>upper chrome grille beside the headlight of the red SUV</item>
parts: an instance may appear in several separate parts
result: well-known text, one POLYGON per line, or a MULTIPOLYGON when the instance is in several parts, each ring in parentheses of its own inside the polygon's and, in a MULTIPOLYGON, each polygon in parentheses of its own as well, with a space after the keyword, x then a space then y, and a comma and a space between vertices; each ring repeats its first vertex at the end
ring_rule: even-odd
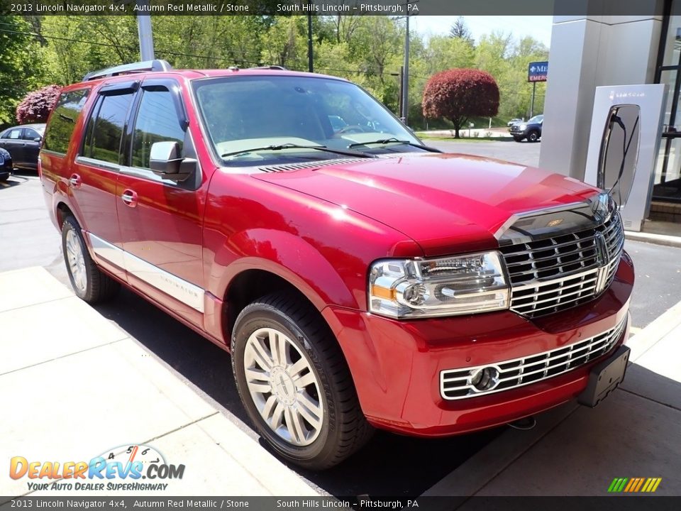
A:
POLYGON ((595 229, 500 248, 511 310, 538 317, 592 300, 614 280, 624 230, 619 214, 595 229))

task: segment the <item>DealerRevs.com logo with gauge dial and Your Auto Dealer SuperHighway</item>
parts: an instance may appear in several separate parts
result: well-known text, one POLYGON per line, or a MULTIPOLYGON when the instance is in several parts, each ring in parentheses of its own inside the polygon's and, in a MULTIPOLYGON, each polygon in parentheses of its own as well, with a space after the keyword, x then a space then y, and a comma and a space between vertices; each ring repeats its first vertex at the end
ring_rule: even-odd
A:
POLYGON ((118 446, 89 461, 29 461, 14 456, 12 479, 28 478, 28 490, 165 490, 166 480, 182 479, 184 465, 165 461, 147 445, 118 446))

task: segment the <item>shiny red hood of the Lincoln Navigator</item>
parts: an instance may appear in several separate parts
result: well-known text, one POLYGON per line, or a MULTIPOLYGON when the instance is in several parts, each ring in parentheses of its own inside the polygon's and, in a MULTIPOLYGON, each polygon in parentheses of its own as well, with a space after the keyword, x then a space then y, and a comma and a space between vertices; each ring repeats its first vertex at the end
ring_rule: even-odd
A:
POLYGON ((514 214, 583 202, 598 190, 559 174, 460 154, 404 155, 253 175, 382 222, 425 255, 487 250, 514 214))

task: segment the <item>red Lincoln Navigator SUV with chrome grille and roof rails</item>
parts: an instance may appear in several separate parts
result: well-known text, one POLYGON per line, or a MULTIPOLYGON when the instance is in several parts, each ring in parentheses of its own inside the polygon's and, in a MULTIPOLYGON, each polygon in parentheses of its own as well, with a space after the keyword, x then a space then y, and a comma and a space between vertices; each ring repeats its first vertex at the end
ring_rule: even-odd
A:
POLYGON ((40 163, 76 294, 125 285, 231 351, 258 432, 301 466, 374 427, 594 406, 624 378, 633 266, 609 195, 428 148, 344 79, 91 73, 40 163))

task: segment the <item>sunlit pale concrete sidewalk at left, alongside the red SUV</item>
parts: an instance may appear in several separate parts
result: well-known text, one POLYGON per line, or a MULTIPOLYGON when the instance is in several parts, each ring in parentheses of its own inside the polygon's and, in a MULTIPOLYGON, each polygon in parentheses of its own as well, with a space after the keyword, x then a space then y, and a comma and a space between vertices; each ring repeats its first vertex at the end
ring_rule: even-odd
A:
MULTIPOLYGON (((28 483, 45 480, 7 477, 14 456, 65 463, 113 452, 126 461, 133 445, 184 464, 181 479, 153 481, 167 483, 166 495, 318 495, 45 269, 0 273, 0 332, 0 495, 73 494, 34 493, 28 483)), ((135 493, 150 494, 77 492, 135 493)))

